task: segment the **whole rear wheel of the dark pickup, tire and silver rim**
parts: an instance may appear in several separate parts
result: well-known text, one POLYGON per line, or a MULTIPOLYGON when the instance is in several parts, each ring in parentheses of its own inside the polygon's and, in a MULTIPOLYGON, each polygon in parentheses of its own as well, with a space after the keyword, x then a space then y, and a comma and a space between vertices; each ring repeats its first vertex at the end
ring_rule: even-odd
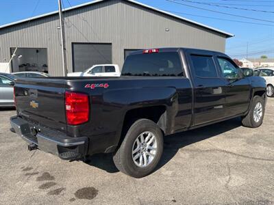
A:
POLYGON ((113 156, 114 164, 124 174, 142 178, 153 172, 163 151, 162 131, 151 120, 140 119, 127 131, 113 156))

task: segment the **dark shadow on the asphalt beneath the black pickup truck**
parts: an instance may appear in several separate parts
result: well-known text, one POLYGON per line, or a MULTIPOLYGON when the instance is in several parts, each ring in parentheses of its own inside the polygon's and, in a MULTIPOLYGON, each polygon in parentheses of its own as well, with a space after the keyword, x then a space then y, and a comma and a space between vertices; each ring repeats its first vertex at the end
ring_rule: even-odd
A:
MULTIPOLYGON (((155 171, 171 161, 179 149, 184 148, 192 143, 196 143, 221 133, 231 131, 239 126, 242 126, 240 118, 234 118, 225 122, 219 122, 217 124, 197 128, 192 131, 185 131, 164 137, 164 152, 162 154, 162 159, 156 167, 155 171)), ((88 158, 88 162, 86 163, 88 165, 98 167, 99 169, 103 169, 109 173, 119 172, 112 161, 112 154, 95 154, 90 156, 88 158)))

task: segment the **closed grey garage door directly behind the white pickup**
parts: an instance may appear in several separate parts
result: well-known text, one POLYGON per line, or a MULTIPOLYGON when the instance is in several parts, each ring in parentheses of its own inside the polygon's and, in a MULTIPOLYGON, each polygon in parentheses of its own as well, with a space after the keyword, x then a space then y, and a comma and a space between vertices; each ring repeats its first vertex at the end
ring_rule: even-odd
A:
POLYGON ((73 43, 73 72, 96 64, 112 64, 112 44, 73 43))

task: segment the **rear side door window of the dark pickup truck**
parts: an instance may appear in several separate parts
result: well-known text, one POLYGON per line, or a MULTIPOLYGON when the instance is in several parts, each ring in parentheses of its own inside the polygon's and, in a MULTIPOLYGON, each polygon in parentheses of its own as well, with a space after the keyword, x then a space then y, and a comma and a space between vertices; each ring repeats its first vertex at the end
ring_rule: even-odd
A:
POLYGON ((212 56, 191 55, 192 65, 196 77, 216 78, 217 70, 212 56))

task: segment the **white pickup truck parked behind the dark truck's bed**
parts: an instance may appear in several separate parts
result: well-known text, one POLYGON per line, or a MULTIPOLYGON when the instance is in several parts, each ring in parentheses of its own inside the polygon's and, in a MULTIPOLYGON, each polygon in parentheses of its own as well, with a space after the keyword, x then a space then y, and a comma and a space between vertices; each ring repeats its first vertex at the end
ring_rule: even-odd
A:
POLYGON ((118 65, 94 65, 83 72, 70 72, 68 77, 119 77, 121 75, 118 65))

